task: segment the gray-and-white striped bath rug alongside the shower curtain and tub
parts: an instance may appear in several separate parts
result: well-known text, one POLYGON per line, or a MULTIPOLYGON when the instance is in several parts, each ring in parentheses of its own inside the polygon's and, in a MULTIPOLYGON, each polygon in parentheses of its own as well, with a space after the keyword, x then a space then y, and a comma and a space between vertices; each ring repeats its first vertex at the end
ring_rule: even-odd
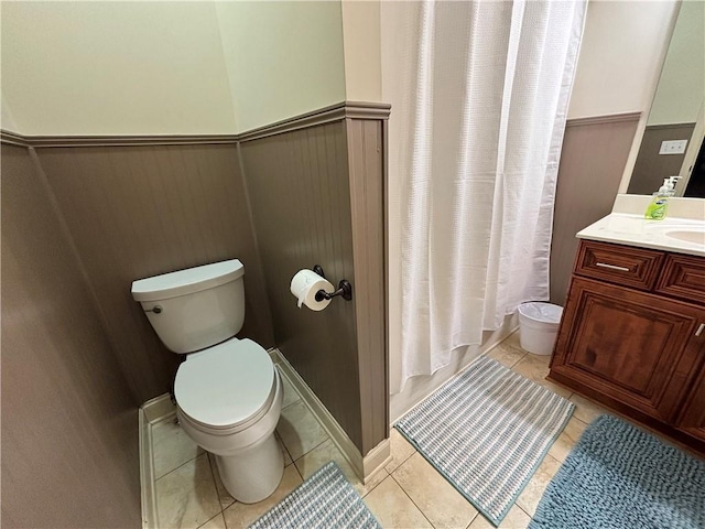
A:
POLYGON ((394 427, 498 526, 574 408, 481 356, 394 427))

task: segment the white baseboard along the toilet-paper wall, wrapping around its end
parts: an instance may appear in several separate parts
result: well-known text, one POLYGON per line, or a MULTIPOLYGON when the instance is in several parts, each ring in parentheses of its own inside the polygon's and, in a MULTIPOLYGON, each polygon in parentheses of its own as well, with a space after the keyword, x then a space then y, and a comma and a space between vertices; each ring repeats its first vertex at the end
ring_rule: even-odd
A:
POLYGON ((279 367, 283 377, 299 391, 304 404, 311 410, 326 431, 333 443, 340 451, 346 461, 350 464, 362 483, 368 483, 377 472, 391 461, 391 444, 389 438, 384 439, 377 446, 362 456, 358 447, 352 443, 347 433, 340 428, 338 421, 330 414, 318 397, 308 385, 296 373, 296 369, 276 348, 269 350, 272 361, 279 367))

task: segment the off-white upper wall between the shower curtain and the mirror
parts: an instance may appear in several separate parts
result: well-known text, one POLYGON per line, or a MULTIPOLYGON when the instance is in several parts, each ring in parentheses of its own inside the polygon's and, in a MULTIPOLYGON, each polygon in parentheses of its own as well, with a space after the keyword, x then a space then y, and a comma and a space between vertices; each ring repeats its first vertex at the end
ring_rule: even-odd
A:
POLYGON ((568 119, 649 111, 676 6, 588 3, 568 119))

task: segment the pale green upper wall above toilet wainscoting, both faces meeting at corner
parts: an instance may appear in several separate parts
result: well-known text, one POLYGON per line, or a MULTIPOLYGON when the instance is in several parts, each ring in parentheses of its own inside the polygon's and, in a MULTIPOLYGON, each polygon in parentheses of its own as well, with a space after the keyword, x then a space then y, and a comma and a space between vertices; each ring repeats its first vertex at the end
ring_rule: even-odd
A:
POLYGON ((22 134, 236 133, 346 98, 340 0, 2 2, 1 23, 22 134))

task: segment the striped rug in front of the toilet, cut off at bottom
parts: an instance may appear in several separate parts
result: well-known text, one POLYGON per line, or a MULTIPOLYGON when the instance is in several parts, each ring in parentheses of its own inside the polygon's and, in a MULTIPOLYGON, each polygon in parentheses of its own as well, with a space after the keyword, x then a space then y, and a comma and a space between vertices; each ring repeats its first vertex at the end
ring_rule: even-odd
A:
POLYGON ((250 526, 250 529, 270 528, 381 529, 381 526, 332 461, 250 526))

